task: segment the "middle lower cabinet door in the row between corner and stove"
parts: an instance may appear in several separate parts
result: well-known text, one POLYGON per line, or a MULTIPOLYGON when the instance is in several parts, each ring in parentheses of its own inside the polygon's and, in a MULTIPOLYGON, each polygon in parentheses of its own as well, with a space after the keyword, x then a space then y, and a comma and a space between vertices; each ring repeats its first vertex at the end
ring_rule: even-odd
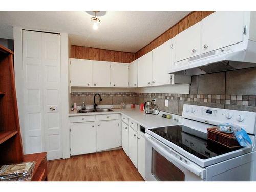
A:
POLYGON ((137 143, 138 133, 129 127, 129 158, 133 162, 134 166, 137 168, 138 161, 138 143, 137 143))

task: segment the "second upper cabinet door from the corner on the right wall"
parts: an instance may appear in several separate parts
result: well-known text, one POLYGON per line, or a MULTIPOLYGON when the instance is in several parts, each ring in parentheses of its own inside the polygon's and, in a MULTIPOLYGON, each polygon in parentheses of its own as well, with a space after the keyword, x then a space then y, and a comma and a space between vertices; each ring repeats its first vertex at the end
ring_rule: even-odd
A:
POLYGON ((152 51, 138 59, 138 87, 151 86, 152 51))

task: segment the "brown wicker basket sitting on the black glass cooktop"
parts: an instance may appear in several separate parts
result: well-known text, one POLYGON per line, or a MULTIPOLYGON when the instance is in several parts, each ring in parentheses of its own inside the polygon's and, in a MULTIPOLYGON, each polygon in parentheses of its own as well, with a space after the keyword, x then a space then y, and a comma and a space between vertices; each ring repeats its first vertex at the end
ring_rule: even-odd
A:
POLYGON ((207 128, 207 139, 222 144, 228 148, 240 147, 236 137, 232 133, 223 133, 216 130, 216 127, 207 128))

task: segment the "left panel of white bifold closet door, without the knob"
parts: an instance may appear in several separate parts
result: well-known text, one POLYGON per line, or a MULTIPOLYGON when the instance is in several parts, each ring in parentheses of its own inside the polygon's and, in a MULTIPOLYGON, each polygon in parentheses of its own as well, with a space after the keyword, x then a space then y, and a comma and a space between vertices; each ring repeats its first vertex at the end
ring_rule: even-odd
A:
MULTIPOLYGON (((42 34, 23 31, 25 154, 44 151, 42 34)), ((22 72, 20 72, 22 73, 22 72)))

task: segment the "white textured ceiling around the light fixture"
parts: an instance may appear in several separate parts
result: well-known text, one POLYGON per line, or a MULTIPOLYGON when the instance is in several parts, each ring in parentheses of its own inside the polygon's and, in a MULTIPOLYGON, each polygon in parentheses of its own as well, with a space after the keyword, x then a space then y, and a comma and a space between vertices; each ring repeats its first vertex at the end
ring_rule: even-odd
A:
MULTIPOLYGON (((12 27, 67 32, 72 45, 137 52, 190 11, 107 11, 98 30, 84 11, 0 11, 0 38, 12 27)), ((97 15, 96 15, 97 16, 97 15)))

